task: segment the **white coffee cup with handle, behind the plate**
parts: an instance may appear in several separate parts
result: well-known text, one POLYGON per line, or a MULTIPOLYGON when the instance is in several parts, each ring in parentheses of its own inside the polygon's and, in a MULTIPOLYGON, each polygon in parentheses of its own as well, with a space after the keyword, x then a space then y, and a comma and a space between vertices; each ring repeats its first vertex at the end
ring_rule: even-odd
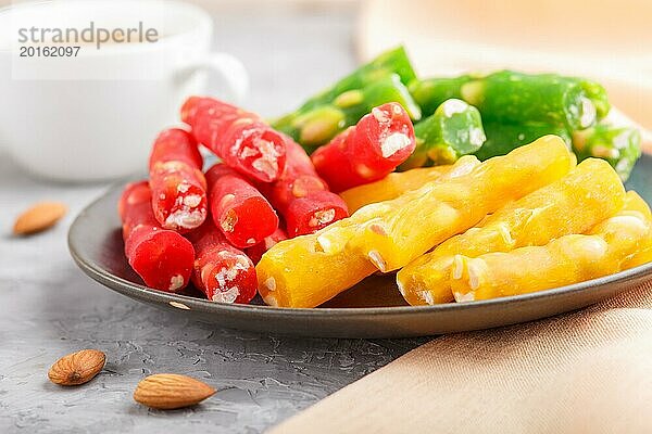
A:
POLYGON ((201 9, 167 0, 64 0, 0 10, 0 146, 30 173, 54 180, 104 180, 145 170, 156 133, 179 123, 187 97, 205 91, 208 72, 229 91, 220 98, 237 102, 247 91, 242 64, 210 51, 212 33, 212 20, 201 9), (38 29, 82 30, 91 22, 93 31, 141 23, 158 39, 113 40, 99 49, 101 37, 77 46, 54 43, 52 31, 46 35, 51 42, 18 40, 21 28, 35 27, 42 37, 38 29), (33 47, 33 56, 18 56, 25 46, 33 47), (62 56, 35 55, 39 48, 43 54, 43 47, 63 50, 62 56), (80 48, 66 56, 67 47, 80 48))

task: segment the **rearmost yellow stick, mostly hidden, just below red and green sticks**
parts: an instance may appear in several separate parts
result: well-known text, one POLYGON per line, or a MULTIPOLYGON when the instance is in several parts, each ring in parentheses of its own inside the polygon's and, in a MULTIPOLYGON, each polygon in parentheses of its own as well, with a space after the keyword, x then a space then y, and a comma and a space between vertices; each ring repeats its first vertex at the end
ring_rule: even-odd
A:
POLYGON ((464 155, 454 166, 423 167, 406 171, 389 174, 379 181, 349 189, 340 195, 347 203, 349 213, 353 214, 365 205, 396 199, 410 190, 416 190, 434 180, 446 180, 447 176, 455 167, 459 176, 465 170, 471 170, 480 164, 474 155, 464 155))

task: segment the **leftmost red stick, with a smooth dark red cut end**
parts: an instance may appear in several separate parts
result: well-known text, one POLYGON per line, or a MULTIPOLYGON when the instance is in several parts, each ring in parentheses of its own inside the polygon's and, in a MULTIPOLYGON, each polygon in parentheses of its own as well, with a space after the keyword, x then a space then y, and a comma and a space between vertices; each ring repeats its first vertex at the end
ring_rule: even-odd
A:
POLYGON ((190 280, 195 248, 178 232, 161 228, 151 201, 147 181, 128 184, 120 199, 125 255, 148 286, 175 292, 190 280))

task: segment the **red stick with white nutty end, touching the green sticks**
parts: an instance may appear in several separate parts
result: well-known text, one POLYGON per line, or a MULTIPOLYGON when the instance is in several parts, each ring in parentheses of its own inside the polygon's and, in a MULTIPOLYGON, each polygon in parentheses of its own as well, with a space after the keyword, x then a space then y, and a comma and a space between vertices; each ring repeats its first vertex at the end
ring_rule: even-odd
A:
POLYGON ((410 116, 390 102, 374 107, 311 158, 330 190, 340 192, 385 178, 408 159, 415 145, 410 116))

